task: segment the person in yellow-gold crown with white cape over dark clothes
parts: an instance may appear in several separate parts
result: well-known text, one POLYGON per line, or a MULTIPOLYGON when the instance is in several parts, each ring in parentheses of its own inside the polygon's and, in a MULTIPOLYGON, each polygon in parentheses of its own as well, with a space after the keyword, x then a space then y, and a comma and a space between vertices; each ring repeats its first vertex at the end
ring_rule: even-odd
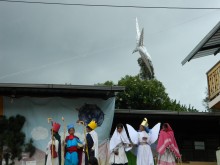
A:
POLYGON ((88 165, 90 157, 98 159, 98 135, 95 132, 96 128, 97 123, 94 120, 86 126, 85 165, 88 165))

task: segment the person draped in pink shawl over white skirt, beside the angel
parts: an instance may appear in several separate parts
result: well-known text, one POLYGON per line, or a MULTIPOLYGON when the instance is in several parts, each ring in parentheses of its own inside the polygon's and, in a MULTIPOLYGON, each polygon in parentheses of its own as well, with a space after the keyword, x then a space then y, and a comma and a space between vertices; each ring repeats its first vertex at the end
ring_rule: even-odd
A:
POLYGON ((175 158, 181 158, 174 132, 168 123, 164 123, 160 131, 157 152, 158 165, 175 165, 175 158))

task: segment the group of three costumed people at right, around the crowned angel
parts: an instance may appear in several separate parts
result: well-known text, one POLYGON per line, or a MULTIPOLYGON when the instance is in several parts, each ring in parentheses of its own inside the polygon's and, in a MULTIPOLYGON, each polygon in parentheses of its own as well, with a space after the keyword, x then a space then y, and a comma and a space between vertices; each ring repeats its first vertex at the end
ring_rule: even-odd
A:
POLYGON ((136 165, 175 165, 176 160, 181 160, 174 132, 168 123, 164 123, 159 132, 157 144, 158 158, 155 162, 149 140, 150 131, 147 119, 145 118, 139 126, 137 143, 134 144, 128 139, 124 126, 118 124, 110 140, 110 164, 128 165, 128 159, 125 152, 129 151, 132 147, 137 148, 136 165))

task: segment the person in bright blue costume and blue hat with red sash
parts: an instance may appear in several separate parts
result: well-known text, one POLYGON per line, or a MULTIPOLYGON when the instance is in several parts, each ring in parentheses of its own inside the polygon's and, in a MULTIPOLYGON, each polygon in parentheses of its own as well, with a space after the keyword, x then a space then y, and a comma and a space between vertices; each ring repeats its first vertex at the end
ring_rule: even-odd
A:
POLYGON ((69 135, 65 139, 65 165, 80 165, 80 146, 82 142, 74 135, 74 124, 67 126, 69 135))

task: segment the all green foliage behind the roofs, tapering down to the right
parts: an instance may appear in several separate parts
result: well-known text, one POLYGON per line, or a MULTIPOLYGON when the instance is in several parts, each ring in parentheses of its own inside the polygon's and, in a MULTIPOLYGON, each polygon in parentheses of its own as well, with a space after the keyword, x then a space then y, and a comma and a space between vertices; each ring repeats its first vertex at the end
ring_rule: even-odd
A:
MULTIPOLYGON (((106 81, 107 84, 111 81, 106 81)), ((119 86, 125 86, 124 92, 116 96, 116 108, 140 110, 172 110, 197 112, 190 105, 187 107, 180 102, 172 100, 166 93, 163 84, 157 79, 140 79, 139 76, 129 76, 118 81, 119 86)))

